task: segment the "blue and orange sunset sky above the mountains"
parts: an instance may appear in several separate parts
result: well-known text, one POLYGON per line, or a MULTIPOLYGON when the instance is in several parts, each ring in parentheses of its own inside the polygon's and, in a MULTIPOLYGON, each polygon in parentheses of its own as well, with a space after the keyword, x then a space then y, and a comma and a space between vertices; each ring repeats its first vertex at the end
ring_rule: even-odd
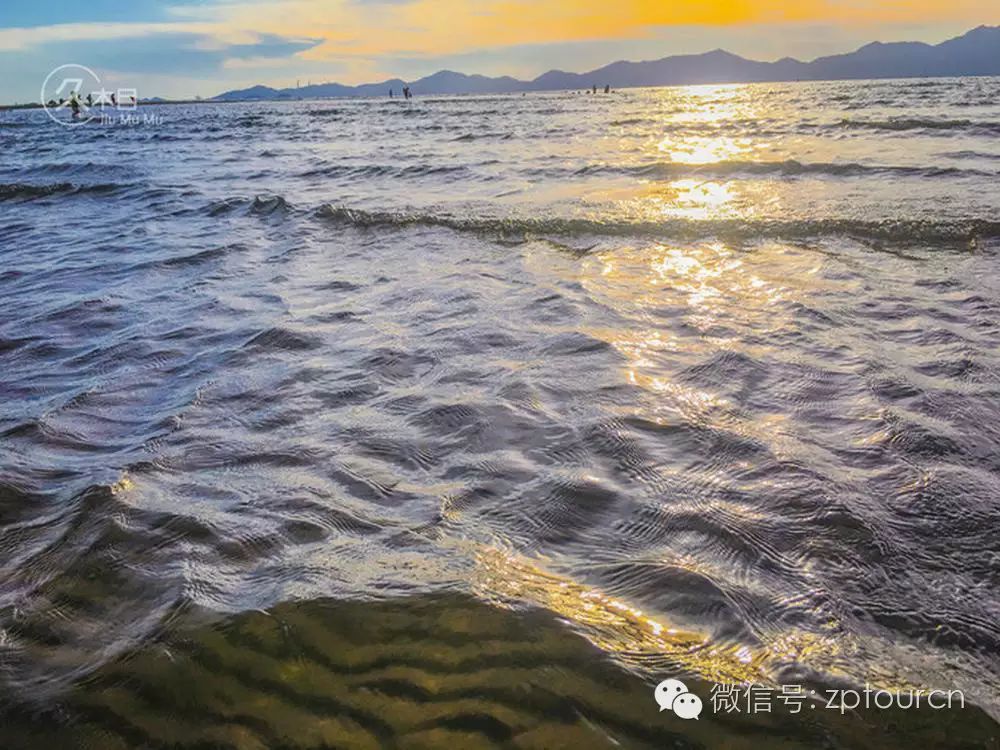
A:
POLYGON ((140 97, 263 83, 533 78, 723 48, 811 60, 1000 24, 997 0, 0 0, 0 102, 59 65, 140 97))

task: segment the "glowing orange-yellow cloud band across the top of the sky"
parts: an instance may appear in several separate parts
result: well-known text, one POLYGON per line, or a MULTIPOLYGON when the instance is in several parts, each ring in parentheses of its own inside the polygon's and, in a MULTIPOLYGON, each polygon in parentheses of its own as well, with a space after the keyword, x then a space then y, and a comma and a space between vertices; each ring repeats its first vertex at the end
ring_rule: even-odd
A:
POLYGON ((987 11, 983 0, 283 0, 210 6, 200 13, 207 12, 230 33, 245 29, 320 38, 323 42, 302 57, 349 61, 639 39, 664 26, 1000 20, 1000 10, 989 5, 987 11))

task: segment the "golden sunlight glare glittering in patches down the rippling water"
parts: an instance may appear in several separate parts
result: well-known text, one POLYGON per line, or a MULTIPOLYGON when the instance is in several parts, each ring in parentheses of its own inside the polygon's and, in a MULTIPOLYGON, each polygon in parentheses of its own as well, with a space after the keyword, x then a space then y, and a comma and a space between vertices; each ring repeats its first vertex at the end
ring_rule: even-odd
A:
MULTIPOLYGON (((771 148, 768 141, 724 134, 691 135, 683 129, 696 125, 702 131, 713 126, 722 130, 734 121, 754 121, 764 113, 747 96, 747 90, 740 84, 664 90, 663 123, 677 129, 659 140, 648 141, 640 153, 629 155, 637 163, 701 167, 705 179, 641 179, 638 187, 605 189, 591 196, 592 200, 616 200, 626 215, 644 221, 749 220, 765 206, 771 214, 780 210, 776 205, 779 198, 769 194, 766 187, 748 189, 738 182, 711 177, 719 165, 766 159, 762 154, 771 148)), ((632 320, 649 319, 646 311, 662 305, 665 296, 675 299, 682 309, 681 316, 699 332, 697 346, 711 339, 723 349, 739 347, 739 336, 719 337, 713 332, 735 328, 762 336, 778 333, 793 325, 788 315, 790 305, 832 286, 820 277, 816 256, 802 248, 769 243, 755 245, 753 251, 722 241, 650 242, 607 251, 598 248, 581 259, 578 281, 596 303, 624 312, 632 320)), ((531 262, 532 257, 529 255, 529 265, 536 272, 551 261, 547 249, 538 258, 538 267, 531 262)), ((724 424, 735 434, 766 441, 782 458, 794 458, 796 440, 786 434, 785 416, 744 419, 726 398, 676 382, 665 374, 658 360, 682 354, 686 344, 682 338, 671 336, 655 318, 649 322, 645 329, 588 329, 589 334, 607 341, 624 356, 627 364, 623 377, 627 382, 649 394, 644 418, 660 424, 724 424)), ((827 632, 788 629, 768 634, 754 647, 714 642, 706 633, 685 629, 662 615, 650 614, 626 600, 547 570, 541 561, 495 546, 478 547, 474 558, 476 589, 483 598, 541 605, 572 623, 605 652, 642 672, 655 674, 657 667, 679 666, 711 682, 777 685, 777 675, 783 668, 805 665, 827 678, 866 675, 884 687, 908 685, 906 678, 892 668, 885 670, 871 662, 872 654, 891 650, 890 644, 861 648, 833 621, 827 624, 827 632)), ((691 566, 696 573, 706 572, 704 563, 694 559, 664 562, 680 568, 691 566)), ((793 563, 803 572, 810 565, 805 559, 793 563)))

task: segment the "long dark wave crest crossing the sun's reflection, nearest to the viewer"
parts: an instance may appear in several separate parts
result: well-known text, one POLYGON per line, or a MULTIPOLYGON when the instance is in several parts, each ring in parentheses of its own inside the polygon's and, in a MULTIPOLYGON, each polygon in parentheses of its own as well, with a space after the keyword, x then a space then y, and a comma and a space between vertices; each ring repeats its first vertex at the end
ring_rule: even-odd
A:
POLYGON ((1000 221, 851 219, 814 220, 692 220, 598 221, 579 218, 489 218, 457 217, 422 212, 364 211, 325 205, 315 215, 327 221, 361 228, 442 227, 504 237, 601 237, 627 236, 657 239, 701 240, 725 238, 750 241, 760 238, 816 239, 847 237, 864 242, 892 242, 895 245, 952 245, 968 247, 984 240, 1000 239, 1000 221))

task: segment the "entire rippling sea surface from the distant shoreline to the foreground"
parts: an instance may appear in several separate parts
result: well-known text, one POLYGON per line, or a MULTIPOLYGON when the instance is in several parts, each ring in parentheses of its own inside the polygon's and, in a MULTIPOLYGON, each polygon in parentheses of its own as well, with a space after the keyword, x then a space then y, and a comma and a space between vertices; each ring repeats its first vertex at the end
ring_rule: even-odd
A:
POLYGON ((0 745, 996 746, 998 101, 0 115, 0 745))

